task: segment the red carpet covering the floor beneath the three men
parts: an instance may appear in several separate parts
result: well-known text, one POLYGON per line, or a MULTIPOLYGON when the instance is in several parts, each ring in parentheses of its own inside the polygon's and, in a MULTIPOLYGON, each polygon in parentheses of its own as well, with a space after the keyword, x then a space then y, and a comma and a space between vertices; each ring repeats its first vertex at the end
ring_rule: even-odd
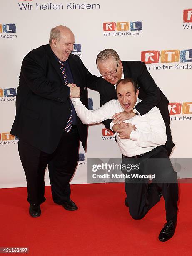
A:
POLYGON ((165 221, 164 200, 142 220, 124 205, 124 184, 72 185, 79 209, 52 202, 50 187, 42 215, 28 214, 27 189, 0 189, 0 247, 29 247, 29 255, 192 255, 192 184, 180 184, 178 223, 169 241, 158 241, 165 221))

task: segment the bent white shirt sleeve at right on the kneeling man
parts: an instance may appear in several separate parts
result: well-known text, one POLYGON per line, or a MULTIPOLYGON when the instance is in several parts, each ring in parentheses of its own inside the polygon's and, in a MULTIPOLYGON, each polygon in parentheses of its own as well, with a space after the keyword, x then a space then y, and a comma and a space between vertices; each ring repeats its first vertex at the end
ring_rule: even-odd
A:
POLYGON ((138 129, 138 145, 140 147, 165 145, 167 141, 166 127, 159 109, 154 107, 145 115, 147 123, 150 125, 150 131, 141 132, 138 129))

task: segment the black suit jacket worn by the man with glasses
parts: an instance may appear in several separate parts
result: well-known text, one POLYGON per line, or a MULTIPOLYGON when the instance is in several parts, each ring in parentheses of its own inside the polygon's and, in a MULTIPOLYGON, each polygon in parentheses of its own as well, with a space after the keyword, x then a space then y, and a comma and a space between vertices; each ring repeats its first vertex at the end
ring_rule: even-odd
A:
MULTIPOLYGON (((147 71, 144 62, 141 61, 122 61, 124 77, 129 77, 137 81, 139 86, 139 98, 142 102, 135 107, 140 115, 144 115, 154 106, 157 106, 163 117, 166 127, 170 124, 168 103, 169 101, 157 87, 150 73, 147 71)), ((97 84, 97 90, 100 93, 100 105, 117 99, 115 87, 110 83, 97 84)), ((110 129, 111 119, 105 120, 103 123, 106 128, 110 129)))

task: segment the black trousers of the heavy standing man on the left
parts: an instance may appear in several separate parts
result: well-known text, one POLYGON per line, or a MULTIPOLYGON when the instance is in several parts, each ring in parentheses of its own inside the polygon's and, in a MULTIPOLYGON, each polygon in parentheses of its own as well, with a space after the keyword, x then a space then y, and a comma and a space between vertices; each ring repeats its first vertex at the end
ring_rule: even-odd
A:
POLYGON ((69 133, 63 131, 57 149, 47 154, 19 139, 19 155, 27 180, 27 201, 30 204, 41 204, 46 199, 45 169, 49 167, 49 177, 53 201, 62 204, 70 198, 70 179, 78 161, 79 134, 77 126, 72 126, 69 133))

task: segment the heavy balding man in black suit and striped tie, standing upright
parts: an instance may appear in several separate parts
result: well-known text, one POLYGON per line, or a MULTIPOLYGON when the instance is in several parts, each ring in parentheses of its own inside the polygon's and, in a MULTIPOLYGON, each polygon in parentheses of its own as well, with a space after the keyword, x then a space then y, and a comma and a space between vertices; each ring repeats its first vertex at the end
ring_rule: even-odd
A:
POLYGON ((51 30, 49 44, 30 51, 22 62, 11 134, 19 137, 32 217, 40 216, 40 204, 45 201, 47 164, 54 202, 77 210, 69 182, 77 166, 79 141, 86 148, 87 125, 77 117, 70 97, 80 97, 88 106, 86 86, 96 89, 97 81, 105 81, 90 74, 80 58, 71 54, 74 42, 69 28, 57 26, 51 30), (78 87, 70 88, 68 83, 78 87))

